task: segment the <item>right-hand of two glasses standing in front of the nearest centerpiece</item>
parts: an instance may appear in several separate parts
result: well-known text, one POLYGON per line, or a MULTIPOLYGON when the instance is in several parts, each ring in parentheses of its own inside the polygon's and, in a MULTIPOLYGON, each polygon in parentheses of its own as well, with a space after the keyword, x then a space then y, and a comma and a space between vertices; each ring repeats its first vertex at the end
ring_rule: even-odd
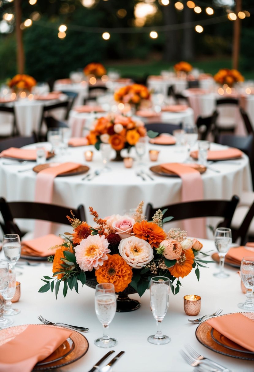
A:
POLYGON ((150 304, 157 323, 156 334, 147 339, 151 344, 164 345, 171 341, 170 337, 161 331, 161 322, 168 310, 169 288, 169 279, 166 276, 154 276, 150 281, 150 304))

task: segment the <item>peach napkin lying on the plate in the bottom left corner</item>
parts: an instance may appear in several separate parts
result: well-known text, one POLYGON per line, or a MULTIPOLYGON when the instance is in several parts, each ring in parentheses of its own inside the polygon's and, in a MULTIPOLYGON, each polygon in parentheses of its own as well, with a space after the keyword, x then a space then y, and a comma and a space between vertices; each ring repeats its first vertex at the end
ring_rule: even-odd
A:
POLYGON ((0 346, 0 372, 30 372, 35 364, 52 354, 73 331, 30 324, 0 346))

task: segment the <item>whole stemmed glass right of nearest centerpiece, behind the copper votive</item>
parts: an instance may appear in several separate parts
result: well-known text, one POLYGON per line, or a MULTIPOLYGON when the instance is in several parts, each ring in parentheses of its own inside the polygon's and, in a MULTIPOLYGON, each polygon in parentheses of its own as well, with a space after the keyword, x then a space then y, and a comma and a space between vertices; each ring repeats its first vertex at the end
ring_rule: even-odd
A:
POLYGON ((232 244, 232 231, 226 227, 218 227, 215 230, 215 247, 219 252, 220 257, 220 271, 218 273, 214 273, 213 275, 217 278, 227 278, 229 274, 224 272, 224 261, 226 253, 229 250, 229 247, 232 244))

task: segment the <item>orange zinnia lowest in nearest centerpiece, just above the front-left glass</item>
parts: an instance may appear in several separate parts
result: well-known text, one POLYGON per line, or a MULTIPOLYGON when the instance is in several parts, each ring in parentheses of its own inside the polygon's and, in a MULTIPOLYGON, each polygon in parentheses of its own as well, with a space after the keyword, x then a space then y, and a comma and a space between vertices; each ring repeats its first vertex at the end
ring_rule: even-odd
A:
POLYGON ((107 254, 108 260, 95 270, 98 283, 113 283, 115 292, 122 292, 131 282, 132 269, 119 256, 119 254, 107 254))

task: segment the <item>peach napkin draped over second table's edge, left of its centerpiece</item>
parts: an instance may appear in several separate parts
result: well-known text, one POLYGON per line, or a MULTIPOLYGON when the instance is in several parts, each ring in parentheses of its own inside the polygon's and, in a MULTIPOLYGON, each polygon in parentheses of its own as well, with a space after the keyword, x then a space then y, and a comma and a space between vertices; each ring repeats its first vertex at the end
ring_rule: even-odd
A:
MULTIPOLYGON (((34 201, 50 204, 53 198, 54 178, 58 176, 58 174, 77 169, 79 166, 80 164, 78 163, 69 162, 41 170, 36 176, 34 201)), ((51 222, 35 221, 35 238, 47 235, 50 231, 51 222)))

